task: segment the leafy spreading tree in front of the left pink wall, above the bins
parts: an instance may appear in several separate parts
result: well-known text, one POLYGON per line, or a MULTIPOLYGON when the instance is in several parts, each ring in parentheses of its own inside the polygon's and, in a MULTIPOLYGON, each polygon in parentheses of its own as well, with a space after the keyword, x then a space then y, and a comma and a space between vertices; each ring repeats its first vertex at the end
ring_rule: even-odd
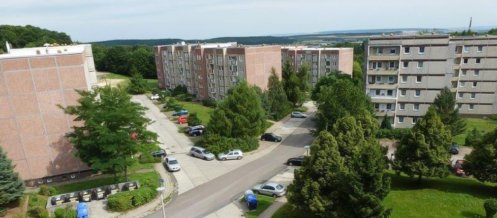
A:
POLYGON ((132 157, 158 143, 157 134, 146 129, 150 122, 144 117, 146 108, 131 101, 120 87, 76 91, 81 95, 79 105, 59 105, 76 116, 75 121, 84 121, 66 134, 77 149, 76 157, 96 170, 124 171, 127 180, 128 167, 136 161, 132 157))

